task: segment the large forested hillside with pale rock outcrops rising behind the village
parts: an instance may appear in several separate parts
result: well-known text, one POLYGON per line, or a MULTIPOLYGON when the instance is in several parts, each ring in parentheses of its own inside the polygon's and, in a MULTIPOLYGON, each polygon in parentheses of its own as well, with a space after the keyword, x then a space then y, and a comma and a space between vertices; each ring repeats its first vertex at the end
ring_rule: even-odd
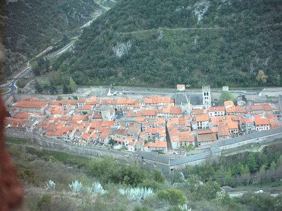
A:
POLYGON ((281 22, 281 0, 120 0, 84 29, 57 77, 84 85, 280 86, 281 22))

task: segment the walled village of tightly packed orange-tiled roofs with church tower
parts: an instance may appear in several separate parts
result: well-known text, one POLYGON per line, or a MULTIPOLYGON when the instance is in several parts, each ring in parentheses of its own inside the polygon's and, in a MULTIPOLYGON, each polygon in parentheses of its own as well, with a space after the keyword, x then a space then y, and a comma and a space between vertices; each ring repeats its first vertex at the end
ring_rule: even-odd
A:
POLYGON ((280 128, 280 117, 279 106, 255 103, 244 95, 235 104, 228 100, 215 106, 209 86, 203 87, 202 95, 192 95, 184 85, 177 85, 175 97, 23 97, 10 107, 5 130, 78 145, 112 144, 116 150, 176 154, 280 128))

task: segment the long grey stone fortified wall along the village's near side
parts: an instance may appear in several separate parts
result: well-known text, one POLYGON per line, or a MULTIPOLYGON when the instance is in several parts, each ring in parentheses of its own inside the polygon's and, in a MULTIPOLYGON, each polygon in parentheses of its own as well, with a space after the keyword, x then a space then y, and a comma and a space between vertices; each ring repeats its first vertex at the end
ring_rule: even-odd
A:
POLYGON ((147 168, 153 171, 154 168, 162 171, 164 175, 169 174, 171 171, 183 171, 186 165, 201 165, 203 162, 213 163, 217 161, 221 152, 234 150, 243 146, 251 144, 261 144, 273 141, 282 137, 282 128, 259 131, 245 136, 231 138, 224 141, 217 141, 211 144, 210 151, 199 153, 197 155, 190 155, 184 157, 177 157, 176 155, 155 154, 143 152, 138 150, 137 153, 129 151, 118 151, 105 146, 89 146, 78 145, 73 143, 66 143, 41 137, 37 134, 9 132, 5 131, 5 136, 13 138, 24 138, 30 140, 32 143, 38 143, 43 146, 52 147, 77 154, 93 155, 97 157, 113 157, 115 159, 125 160, 128 162, 136 161, 137 166, 140 168, 147 168))

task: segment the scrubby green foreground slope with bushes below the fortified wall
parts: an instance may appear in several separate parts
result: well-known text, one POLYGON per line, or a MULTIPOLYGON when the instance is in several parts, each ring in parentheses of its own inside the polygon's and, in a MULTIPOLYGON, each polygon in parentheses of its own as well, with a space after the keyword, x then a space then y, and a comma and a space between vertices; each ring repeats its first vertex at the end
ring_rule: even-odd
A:
MULTIPOLYGON (((134 163, 130 166, 117 165, 112 158, 89 160, 65 153, 21 150, 17 145, 10 146, 8 150, 17 166, 19 181, 25 188, 25 204, 29 210, 180 211, 191 207, 192 210, 210 211, 272 211, 282 208, 282 195, 272 197, 269 193, 249 192, 241 198, 229 198, 228 194, 220 192, 219 178, 206 178, 201 182, 197 173, 205 172, 208 165, 196 168, 193 175, 183 179, 178 172, 164 177, 159 170, 149 173, 140 170, 134 163), (46 189, 48 180, 56 184, 52 191, 46 189), (108 193, 88 193, 87 189, 73 193, 69 184, 74 180, 81 181, 85 187, 99 182, 108 193), (145 186, 151 187, 154 192, 146 199, 128 198, 117 191, 118 188, 145 186), (187 204, 187 208, 182 209, 178 204, 187 204)), ((281 158, 277 160, 278 165, 281 165, 281 158)), ((264 172, 263 175, 268 176, 269 173, 264 172)), ((224 174, 221 180, 226 179, 234 180, 224 174)), ((281 182, 278 183, 280 185, 281 182)))

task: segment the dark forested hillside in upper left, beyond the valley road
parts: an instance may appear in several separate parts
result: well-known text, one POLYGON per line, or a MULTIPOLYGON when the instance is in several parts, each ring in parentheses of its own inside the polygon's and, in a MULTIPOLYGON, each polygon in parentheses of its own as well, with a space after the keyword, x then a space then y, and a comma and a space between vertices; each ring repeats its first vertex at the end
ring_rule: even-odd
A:
POLYGON ((79 27, 99 9, 93 0, 1 0, 0 7, 0 36, 7 66, 37 55, 61 40, 63 34, 79 35, 79 27))

